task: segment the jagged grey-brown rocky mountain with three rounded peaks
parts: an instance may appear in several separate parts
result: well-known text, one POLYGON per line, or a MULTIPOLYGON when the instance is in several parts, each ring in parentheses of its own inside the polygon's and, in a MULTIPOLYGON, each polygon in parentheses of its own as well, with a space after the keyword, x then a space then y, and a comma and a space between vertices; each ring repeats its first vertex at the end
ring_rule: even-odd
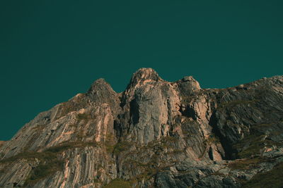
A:
POLYGON ((96 80, 0 146, 0 187, 281 187, 283 77, 201 89, 141 68, 125 92, 96 80))

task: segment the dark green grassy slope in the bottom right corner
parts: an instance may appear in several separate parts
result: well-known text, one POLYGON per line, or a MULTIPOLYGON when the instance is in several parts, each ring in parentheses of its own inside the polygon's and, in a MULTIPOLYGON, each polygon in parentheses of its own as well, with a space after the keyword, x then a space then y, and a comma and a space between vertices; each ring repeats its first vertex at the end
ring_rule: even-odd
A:
POLYGON ((243 187, 282 187, 283 163, 275 165, 266 173, 258 173, 251 180, 243 184, 243 187))

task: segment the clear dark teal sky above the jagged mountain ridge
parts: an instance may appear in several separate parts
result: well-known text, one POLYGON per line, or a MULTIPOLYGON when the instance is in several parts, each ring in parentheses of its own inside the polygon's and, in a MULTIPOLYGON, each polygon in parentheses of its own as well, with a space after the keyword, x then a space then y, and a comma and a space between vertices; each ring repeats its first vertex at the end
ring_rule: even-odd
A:
POLYGON ((99 77, 138 68, 204 88, 282 75, 283 1, 0 1, 0 140, 99 77))

